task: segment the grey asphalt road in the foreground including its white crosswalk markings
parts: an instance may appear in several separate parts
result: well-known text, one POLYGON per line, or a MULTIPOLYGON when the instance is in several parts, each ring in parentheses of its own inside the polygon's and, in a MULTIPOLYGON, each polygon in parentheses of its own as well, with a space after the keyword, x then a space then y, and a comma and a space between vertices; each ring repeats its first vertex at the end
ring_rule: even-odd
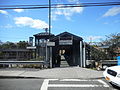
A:
POLYGON ((116 90, 103 79, 0 79, 0 90, 116 90))

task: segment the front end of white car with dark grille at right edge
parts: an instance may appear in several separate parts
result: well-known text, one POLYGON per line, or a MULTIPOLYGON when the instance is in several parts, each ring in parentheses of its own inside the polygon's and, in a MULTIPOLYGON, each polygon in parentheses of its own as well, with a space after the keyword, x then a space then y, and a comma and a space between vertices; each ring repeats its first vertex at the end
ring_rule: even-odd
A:
POLYGON ((103 72, 105 79, 112 85, 120 87, 120 66, 106 68, 103 72))

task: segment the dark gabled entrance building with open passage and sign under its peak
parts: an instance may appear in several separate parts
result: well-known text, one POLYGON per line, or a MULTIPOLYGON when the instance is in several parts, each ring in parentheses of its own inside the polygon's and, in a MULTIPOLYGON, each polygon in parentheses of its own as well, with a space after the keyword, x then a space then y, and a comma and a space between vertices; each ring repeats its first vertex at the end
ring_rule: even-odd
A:
POLYGON ((80 41, 82 38, 73 35, 68 32, 63 32, 50 41, 55 42, 55 46, 52 48, 52 64, 53 67, 60 66, 59 64, 65 64, 69 66, 76 66, 80 64, 80 41), (63 58, 59 61, 57 56, 60 55, 63 58), (64 61, 64 63, 62 63, 64 61), (59 62, 59 63, 57 63, 59 62))

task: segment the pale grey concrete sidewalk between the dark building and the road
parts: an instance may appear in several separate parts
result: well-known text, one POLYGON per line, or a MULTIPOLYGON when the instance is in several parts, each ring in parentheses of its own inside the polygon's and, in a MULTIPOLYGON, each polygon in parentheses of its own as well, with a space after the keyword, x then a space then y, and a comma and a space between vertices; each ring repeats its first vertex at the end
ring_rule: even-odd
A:
POLYGON ((1 77, 37 77, 37 78, 101 78, 103 71, 96 71, 81 67, 66 67, 52 69, 23 69, 7 68, 0 69, 1 77))

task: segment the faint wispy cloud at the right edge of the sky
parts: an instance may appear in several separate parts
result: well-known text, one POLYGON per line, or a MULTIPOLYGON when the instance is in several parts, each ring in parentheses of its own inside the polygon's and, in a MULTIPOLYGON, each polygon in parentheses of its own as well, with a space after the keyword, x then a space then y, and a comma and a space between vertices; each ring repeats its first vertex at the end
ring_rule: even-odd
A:
POLYGON ((120 14, 120 7, 113 7, 111 9, 109 9, 104 15, 103 17, 108 17, 108 16, 115 16, 117 14, 120 14))

